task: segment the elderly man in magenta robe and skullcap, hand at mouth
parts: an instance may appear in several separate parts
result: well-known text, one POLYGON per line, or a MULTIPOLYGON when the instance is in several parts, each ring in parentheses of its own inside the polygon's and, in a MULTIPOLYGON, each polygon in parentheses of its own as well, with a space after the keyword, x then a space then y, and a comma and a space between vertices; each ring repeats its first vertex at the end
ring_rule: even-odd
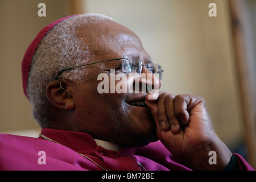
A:
POLYGON ((253 170, 214 133, 203 98, 158 92, 162 72, 138 36, 112 18, 49 24, 22 62, 42 133, 2 134, 0 169, 253 170))

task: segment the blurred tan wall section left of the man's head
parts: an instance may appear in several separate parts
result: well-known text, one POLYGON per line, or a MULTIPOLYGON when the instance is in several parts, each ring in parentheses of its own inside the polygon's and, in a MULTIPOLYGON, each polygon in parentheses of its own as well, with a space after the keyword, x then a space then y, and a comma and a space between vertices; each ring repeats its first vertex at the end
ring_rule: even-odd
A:
MULTIPOLYGON (((20 133, 20 130, 39 129, 31 115, 32 106, 23 93, 21 75, 23 55, 44 26, 67 16, 69 11, 69 2, 62 0, 0 1, 1 133, 10 131, 20 133), (46 17, 38 16, 40 2, 46 3, 46 17)), ((33 133, 32 131, 30 133, 33 133)))

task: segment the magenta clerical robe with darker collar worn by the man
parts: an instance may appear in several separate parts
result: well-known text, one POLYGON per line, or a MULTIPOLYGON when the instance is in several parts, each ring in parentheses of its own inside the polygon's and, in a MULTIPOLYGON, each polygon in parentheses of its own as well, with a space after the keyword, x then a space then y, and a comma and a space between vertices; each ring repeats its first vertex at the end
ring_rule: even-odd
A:
MULTIPOLYGON (((42 129, 42 134, 58 143, 41 137, 0 134, 0 170, 102 170, 95 163, 110 171, 137 171, 143 167, 148 171, 191 170, 179 164, 160 141, 116 152, 97 146, 85 133, 42 129)), ((241 170, 254 170, 242 156, 235 155, 241 170)))

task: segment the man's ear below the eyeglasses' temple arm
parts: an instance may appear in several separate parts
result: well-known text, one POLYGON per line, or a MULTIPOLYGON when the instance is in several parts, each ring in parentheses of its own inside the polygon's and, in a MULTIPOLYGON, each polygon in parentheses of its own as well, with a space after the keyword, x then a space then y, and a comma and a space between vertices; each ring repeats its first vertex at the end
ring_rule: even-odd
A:
POLYGON ((75 109, 75 102, 72 94, 68 93, 68 81, 62 80, 60 87, 59 80, 49 82, 46 87, 46 96, 51 104, 59 109, 75 109), (62 88, 61 88, 62 87, 62 88), (65 89, 63 89, 65 88, 65 89))

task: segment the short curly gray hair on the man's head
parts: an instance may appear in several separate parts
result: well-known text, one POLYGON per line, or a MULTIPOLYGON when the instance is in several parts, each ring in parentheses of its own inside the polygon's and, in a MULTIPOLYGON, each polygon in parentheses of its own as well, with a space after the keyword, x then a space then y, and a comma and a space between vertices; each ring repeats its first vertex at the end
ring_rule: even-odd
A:
MULTIPOLYGON (((32 115, 41 127, 49 127, 53 122, 46 96, 48 83, 61 69, 86 64, 94 57, 93 51, 79 38, 77 27, 106 19, 113 20, 100 14, 72 16, 58 23, 41 40, 31 61, 27 84, 28 98, 33 106, 32 115)), ((60 78, 79 81, 84 74, 85 69, 72 69, 63 72, 60 78)))

